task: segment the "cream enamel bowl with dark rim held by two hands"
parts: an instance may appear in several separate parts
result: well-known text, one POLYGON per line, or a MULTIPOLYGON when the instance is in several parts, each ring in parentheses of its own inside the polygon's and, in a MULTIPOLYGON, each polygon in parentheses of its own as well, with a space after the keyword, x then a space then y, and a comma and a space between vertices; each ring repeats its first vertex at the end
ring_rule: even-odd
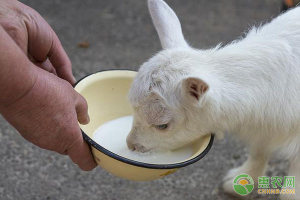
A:
POLYGON ((97 164, 118 177, 145 181, 161 178, 201 159, 212 145, 213 134, 191 144, 192 156, 171 164, 134 161, 110 152, 91 139, 95 129, 104 122, 132 114, 127 92, 135 75, 136 72, 130 70, 100 71, 81 78, 74 85, 75 90, 87 100, 90 122, 80 124, 80 128, 97 164))

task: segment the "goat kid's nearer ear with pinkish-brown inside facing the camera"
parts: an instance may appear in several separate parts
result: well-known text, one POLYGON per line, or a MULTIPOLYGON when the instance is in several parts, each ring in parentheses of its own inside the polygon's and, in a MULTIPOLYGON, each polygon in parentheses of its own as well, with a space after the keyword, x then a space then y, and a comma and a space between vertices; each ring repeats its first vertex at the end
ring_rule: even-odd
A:
POLYGON ((190 104, 198 105, 209 89, 206 82, 197 77, 187 77, 181 82, 181 95, 190 104))

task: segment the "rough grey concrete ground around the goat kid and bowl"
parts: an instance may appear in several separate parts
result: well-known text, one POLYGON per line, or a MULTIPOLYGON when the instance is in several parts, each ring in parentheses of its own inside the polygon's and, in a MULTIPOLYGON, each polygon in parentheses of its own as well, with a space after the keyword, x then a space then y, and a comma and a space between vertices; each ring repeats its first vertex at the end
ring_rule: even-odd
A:
MULTIPOLYGON (((23 0, 57 32, 76 78, 112 68, 137 69, 160 49, 146 0, 23 0), (88 48, 77 43, 87 41, 88 48)), ((241 35, 249 24, 270 19, 280 0, 167 0, 194 47, 213 46, 241 35)), ((0 117, 0 199, 235 199, 226 195, 222 176, 246 157, 233 138, 215 140, 201 161, 165 178, 132 182, 101 168, 83 172, 67 156, 25 141, 0 117)), ((284 175, 287 164, 272 159, 268 175, 284 175)), ((256 194, 255 194, 256 193, 256 194)), ((258 195, 245 199, 278 199, 258 195)))

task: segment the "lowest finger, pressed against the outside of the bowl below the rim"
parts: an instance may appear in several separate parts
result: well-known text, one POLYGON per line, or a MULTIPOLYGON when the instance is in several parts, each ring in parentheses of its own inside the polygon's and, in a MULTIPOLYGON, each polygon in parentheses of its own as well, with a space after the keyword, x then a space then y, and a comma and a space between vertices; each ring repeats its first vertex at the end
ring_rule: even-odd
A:
POLYGON ((67 154, 71 158, 72 162, 77 164, 82 170, 90 171, 97 166, 90 152, 87 143, 81 136, 80 129, 78 129, 77 139, 73 145, 67 149, 67 154))

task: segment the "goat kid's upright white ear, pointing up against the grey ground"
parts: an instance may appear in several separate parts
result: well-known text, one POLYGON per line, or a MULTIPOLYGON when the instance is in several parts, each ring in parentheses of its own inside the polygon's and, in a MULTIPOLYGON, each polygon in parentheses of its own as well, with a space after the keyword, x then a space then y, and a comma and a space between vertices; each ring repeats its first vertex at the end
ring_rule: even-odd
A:
POLYGON ((163 49, 188 47, 178 17, 163 0, 148 0, 148 8, 163 49))

